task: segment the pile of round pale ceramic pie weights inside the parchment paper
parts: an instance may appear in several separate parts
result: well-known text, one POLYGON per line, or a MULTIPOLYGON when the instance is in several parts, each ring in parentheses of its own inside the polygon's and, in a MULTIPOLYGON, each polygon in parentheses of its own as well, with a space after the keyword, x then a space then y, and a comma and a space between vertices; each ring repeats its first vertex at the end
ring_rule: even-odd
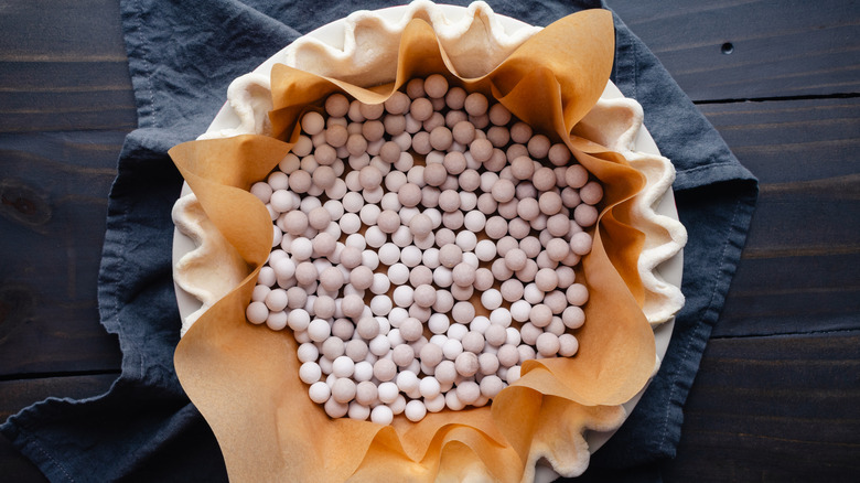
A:
POLYGON ((332 418, 481 407, 570 357, 603 189, 563 143, 441 75, 384 104, 326 98, 251 193, 273 222, 248 321, 289 326, 332 418))

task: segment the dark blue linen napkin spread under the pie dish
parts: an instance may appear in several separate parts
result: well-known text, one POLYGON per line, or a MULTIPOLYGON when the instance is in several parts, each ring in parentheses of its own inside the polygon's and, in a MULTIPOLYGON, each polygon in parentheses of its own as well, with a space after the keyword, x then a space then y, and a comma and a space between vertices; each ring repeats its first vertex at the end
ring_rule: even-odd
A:
MULTIPOLYGON (((467 1, 447 1, 467 4, 467 1)), ((488 0, 498 13, 535 25, 598 0, 488 0)), ((171 147, 206 130, 227 85, 299 35, 370 1, 121 0, 138 129, 119 158, 109 200, 99 277, 101 323, 119 337, 122 374, 85 400, 50 398, 0 426, 52 481, 225 481, 212 431, 173 371, 180 318, 171 276, 170 211, 182 179, 171 147)), ((645 125, 671 159, 674 189, 689 242, 682 291, 663 366, 622 429, 598 451, 587 481, 659 481, 675 455, 682 406, 740 259, 756 181, 670 78, 615 17, 612 79, 645 109, 645 125)))

